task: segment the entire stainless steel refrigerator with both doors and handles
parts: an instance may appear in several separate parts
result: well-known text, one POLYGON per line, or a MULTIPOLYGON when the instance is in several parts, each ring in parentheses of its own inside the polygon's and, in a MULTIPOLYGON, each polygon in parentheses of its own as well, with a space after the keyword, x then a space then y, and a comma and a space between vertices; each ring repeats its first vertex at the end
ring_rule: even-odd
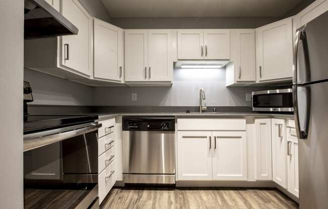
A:
POLYGON ((328 208, 328 12, 297 30, 293 100, 300 209, 328 208))

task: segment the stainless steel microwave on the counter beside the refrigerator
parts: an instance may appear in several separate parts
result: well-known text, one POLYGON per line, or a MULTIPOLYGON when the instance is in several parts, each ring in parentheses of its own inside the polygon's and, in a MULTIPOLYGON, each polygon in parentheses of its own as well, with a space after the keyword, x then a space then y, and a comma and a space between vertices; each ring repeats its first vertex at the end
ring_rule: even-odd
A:
POLYGON ((294 112, 291 88, 253 91, 253 111, 294 112))

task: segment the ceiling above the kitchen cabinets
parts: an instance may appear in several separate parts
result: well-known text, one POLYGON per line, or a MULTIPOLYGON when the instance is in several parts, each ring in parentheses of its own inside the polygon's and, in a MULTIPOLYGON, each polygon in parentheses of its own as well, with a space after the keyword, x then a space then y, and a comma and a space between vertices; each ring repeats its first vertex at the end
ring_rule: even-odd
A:
POLYGON ((282 17, 302 0, 102 0, 118 17, 282 17))

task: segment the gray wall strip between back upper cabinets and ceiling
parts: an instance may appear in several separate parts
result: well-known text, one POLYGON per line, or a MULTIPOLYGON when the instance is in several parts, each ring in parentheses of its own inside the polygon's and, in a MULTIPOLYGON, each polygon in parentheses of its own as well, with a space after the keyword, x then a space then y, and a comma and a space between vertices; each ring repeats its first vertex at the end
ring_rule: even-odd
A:
POLYGON ((123 29, 257 28, 279 18, 112 18, 123 29))

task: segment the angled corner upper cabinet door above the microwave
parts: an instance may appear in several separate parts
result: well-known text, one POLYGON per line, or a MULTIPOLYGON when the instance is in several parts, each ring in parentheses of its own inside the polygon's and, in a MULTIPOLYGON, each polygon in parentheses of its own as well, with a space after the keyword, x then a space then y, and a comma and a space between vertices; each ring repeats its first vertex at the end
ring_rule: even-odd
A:
POLYGON ((292 77, 292 18, 256 29, 258 80, 292 77))

